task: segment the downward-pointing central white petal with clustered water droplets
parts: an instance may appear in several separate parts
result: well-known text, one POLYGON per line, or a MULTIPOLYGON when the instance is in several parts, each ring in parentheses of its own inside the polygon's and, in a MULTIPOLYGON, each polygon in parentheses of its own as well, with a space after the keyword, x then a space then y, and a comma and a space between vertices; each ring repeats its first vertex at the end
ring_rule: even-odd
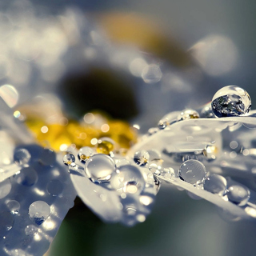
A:
POLYGON ((78 158, 68 153, 63 162, 69 166, 75 189, 87 206, 103 220, 122 222, 126 226, 146 220, 157 193, 153 174, 145 167, 150 154, 139 154, 137 166, 118 154, 114 150, 114 142, 109 138, 99 140, 95 150, 86 146, 75 154, 78 158), (84 182, 80 182, 82 179, 84 182), (90 183, 86 187, 88 179, 90 183), (90 197, 92 191, 94 194, 90 197), (117 205, 109 217, 108 210, 112 202, 117 205))

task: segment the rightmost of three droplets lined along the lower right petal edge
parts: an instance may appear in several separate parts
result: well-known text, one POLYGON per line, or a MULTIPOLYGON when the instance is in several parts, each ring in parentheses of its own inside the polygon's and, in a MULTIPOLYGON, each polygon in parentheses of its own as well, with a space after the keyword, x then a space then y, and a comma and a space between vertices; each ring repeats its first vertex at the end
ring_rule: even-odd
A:
POLYGON ((245 206, 250 198, 250 190, 241 184, 232 185, 227 189, 227 197, 238 206, 245 206))

